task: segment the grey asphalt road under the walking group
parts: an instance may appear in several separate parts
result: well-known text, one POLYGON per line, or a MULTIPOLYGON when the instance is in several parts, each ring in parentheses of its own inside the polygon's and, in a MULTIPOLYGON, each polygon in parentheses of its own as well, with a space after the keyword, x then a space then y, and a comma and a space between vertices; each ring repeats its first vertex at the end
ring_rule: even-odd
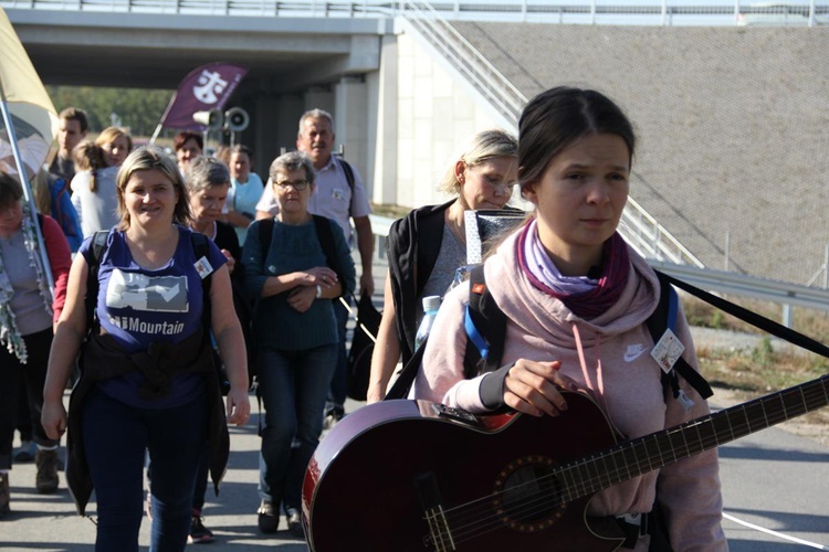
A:
MULTIPOLYGON (((385 272, 385 265, 375 267, 376 304, 381 302, 385 272)), ((230 431, 232 453, 221 495, 208 493, 204 522, 217 541, 198 546, 213 552, 265 548, 304 552, 305 543, 287 531, 262 535, 256 529, 260 439, 255 401, 252 403, 250 423, 230 431)), ((360 405, 349 401, 346 407, 353 412, 360 405)), ((712 406, 727 405, 717 403, 715 396, 712 406)), ((772 427, 721 447, 720 457, 726 516, 723 528, 732 551, 829 551, 829 447, 772 427)), ((31 463, 15 465, 10 484, 12 512, 0 519, 0 550, 91 550, 95 527, 91 519, 75 513, 63 475, 55 495, 35 491, 31 463)), ((94 507, 92 502, 88 508, 92 518, 94 507)), ((140 533, 144 549, 148 535, 149 522, 145 519, 140 533)), ((347 544, 343 543, 343 550, 350 552, 347 544)))

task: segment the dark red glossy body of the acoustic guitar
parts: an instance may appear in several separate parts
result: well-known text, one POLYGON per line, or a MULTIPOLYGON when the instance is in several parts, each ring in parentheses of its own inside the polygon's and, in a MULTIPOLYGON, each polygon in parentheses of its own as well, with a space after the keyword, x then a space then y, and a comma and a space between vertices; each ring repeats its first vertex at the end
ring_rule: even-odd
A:
POLYGON ((567 393, 567 404, 563 415, 541 418, 476 418, 426 401, 359 408, 321 442, 305 474, 308 544, 316 552, 616 550, 622 540, 612 521, 586 522, 591 497, 538 502, 559 487, 546 470, 616 443, 591 400, 567 393), (445 531, 430 531, 429 512, 440 528, 445 513, 445 531))

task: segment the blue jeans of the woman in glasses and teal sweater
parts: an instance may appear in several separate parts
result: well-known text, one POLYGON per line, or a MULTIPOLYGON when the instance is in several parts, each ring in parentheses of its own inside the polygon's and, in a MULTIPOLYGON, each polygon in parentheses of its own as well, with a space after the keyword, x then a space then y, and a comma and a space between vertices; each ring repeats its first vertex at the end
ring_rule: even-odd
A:
POLYGON ((301 506, 302 479, 323 433, 323 407, 336 359, 336 343, 305 351, 260 351, 265 423, 259 493, 267 502, 284 501, 285 509, 301 506))

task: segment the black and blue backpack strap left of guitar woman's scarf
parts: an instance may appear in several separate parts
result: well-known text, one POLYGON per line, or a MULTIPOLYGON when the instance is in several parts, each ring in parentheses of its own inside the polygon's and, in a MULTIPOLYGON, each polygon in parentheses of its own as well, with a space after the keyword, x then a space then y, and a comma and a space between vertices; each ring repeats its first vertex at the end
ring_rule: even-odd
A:
POLYGON ((483 264, 470 270, 469 305, 464 317, 466 349, 463 374, 472 379, 501 368, 506 338, 506 316, 486 287, 483 264))

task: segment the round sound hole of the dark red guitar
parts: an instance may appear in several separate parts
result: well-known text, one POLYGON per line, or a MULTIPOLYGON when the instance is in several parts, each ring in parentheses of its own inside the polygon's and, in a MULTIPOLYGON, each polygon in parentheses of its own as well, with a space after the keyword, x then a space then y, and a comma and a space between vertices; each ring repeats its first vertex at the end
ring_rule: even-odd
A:
POLYGON ((535 532, 552 527, 564 511, 555 465, 543 456, 517 459, 495 482, 494 507, 511 529, 535 532))

